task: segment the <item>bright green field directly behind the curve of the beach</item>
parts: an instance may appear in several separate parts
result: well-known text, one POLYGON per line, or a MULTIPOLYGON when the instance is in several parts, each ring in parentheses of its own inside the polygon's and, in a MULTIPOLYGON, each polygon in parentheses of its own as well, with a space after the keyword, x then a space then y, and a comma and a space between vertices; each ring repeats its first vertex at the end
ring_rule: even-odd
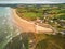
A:
POLYGON ((34 13, 34 12, 26 12, 24 13, 24 16, 25 19, 28 19, 28 20, 36 20, 37 17, 41 17, 42 13, 34 13))

